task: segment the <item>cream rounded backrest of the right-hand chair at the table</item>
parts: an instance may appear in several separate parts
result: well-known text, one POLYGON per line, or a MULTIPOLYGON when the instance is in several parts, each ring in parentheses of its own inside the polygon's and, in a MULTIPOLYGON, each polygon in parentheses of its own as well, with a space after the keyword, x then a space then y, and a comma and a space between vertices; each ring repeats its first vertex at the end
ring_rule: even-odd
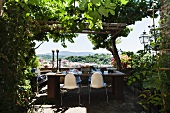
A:
POLYGON ((104 86, 103 76, 95 72, 91 77, 91 87, 93 88, 101 88, 104 86))

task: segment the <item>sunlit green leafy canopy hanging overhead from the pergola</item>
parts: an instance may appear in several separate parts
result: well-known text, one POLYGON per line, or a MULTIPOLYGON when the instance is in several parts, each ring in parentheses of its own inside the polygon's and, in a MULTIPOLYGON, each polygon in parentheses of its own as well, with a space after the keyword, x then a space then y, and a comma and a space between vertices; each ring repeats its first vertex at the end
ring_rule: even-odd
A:
POLYGON ((117 4, 125 5, 128 0, 9 0, 7 3, 23 9, 24 18, 30 21, 26 33, 33 40, 51 38, 67 47, 65 41, 74 43, 76 33, 86 28, 87 23, 92 30, 102 29, 104 18, 115 15, 117 4), (49 25, 47 21, 59 24, 49 25))

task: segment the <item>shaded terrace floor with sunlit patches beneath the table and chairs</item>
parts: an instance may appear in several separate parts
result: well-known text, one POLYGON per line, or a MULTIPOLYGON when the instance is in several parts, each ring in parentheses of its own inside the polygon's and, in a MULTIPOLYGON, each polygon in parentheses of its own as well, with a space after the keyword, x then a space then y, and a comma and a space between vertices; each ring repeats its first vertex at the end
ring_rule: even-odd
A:
POLYGON ((33 113, 146 113, 137 104, 139 98, 128 87, 124 88, 124 101, 114 100, 111 90, 108 88, 109 103, 106 102, 105 89, 92 89, 91 104, 88 101, 88 87, 81 90, 81 105, 78 104, 77 90, 65 92, 63 106, 58 101, 47 100, 46 89, 40 92, 34 99, 33 113))

